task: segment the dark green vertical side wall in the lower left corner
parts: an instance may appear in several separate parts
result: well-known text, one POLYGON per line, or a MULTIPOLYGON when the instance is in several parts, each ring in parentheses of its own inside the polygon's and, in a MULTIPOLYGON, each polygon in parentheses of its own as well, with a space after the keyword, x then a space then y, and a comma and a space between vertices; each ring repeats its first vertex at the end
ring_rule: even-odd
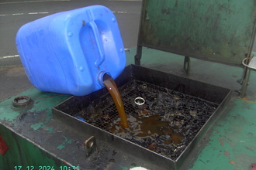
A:
POLYGON ((61 166, 67 166, 61 159, 2 125, 0 125, 0 134, 9 147, 5 155, 0 155, 0 168, 4 170, 32 170, 40 167, 41 169, 57 170, 61 166))

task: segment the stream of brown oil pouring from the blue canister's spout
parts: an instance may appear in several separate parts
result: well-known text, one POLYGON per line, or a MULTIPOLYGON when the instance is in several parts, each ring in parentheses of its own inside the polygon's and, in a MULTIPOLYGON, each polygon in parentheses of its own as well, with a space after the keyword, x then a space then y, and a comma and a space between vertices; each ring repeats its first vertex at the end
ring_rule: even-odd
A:
POLYGON ((116 109, 118 111, 119 117, 121 118, 123 128, 128 128, 128 121, 126 119, 126 113, 123 107, 123 100, 120 96, 118 88, 116 87, 115 81, 112 79, 112 76, 109 76, 109 74, 106 73, 103 76, 103 83, 109 90, 109 93, 111 94, 111 97, 116 104, 116 109))

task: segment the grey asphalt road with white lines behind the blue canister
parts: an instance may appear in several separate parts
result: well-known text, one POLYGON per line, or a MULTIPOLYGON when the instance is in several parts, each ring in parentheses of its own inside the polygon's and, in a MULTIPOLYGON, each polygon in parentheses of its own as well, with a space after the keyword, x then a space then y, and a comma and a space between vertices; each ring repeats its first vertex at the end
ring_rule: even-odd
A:
POLYGON ((32 88, 16 50, 19 28, 43 16, 88 5, 104 5, 116 15, 125 48, 137 45, 142 0, 1 0, 0 101, 32 88))

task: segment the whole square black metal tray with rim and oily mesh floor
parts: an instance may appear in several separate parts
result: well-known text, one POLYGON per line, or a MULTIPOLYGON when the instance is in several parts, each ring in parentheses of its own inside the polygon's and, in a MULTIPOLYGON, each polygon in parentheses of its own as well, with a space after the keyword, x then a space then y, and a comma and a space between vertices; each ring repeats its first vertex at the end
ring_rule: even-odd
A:
POLYGON ((130 128, 121 128, 105 89, 57 105, 54 119, 162 168, 179 168, 230 100, 228 89, 133 65, 116 84, 130 128))

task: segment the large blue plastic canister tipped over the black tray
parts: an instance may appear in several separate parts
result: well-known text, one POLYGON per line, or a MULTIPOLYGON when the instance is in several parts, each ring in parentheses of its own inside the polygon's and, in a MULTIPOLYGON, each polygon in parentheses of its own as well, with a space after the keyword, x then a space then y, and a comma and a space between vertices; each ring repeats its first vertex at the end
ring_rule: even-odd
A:
POLYGON ((22 26, 16 46, 26 75, 45 92, 83 96, 116 79, 126 55, 115 15, 102 5, 60 12, 22 26))

